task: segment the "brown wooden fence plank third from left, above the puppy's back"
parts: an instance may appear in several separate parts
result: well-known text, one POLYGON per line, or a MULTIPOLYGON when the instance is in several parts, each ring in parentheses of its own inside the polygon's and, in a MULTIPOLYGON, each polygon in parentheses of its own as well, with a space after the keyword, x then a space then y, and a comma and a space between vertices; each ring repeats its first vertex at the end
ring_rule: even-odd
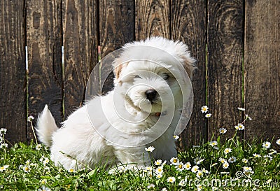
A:
POLYGON ((85 101, 97 55, 97 1, 63 0, 64 108, 67 117, 85 101))

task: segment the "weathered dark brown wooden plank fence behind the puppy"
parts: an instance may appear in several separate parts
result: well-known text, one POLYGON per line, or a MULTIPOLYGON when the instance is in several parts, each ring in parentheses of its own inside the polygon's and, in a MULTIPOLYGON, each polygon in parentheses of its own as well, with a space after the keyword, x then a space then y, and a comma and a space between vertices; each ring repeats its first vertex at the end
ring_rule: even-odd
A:
POLYGON ((240 132, 245 139, 279 138, 279 18, 279 0, 1 0, 0 126, 8 141, 29 141, 27 115, 45 104, 62 122, 83 104, 99 45, 104 57, 154 35, 185 42, 197 59, 183 141, 211 139, 220 127, 232 135, 244 119, 237 107, 253 118, 240 132))

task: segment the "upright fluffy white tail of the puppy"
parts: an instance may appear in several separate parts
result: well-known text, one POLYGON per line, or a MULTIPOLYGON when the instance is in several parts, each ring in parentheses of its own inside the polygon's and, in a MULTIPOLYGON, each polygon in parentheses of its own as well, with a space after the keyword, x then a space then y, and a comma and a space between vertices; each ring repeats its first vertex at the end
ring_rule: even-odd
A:
POLYGON ((36 134, 39 141, 46 146, 52 145, 52 134, 57 130, 57 125, 55 124, 55 118, 52 117, 52 113, 48 109, 48 105, 45 105, 42 113, 38 115, 36 134))

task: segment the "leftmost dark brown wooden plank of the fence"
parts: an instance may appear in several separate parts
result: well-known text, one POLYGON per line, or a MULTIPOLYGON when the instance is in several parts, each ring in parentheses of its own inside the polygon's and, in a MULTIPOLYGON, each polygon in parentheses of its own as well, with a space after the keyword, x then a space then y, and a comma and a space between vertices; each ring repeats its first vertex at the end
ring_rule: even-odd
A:
POLYGON ((10 142, 26 141, 25 5, 0 2, 0 128, 10 142))

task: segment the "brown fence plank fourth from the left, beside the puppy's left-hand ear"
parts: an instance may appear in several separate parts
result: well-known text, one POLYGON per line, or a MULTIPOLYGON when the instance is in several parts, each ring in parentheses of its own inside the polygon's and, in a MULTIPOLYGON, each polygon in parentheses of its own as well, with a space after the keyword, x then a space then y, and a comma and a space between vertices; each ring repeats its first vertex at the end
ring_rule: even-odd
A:
MULTIPOLYGON (((134 1, 99 1, 99 34, 102 58, 121 48, 125 43, 134 41, 134 1)), ((108 64, 108 63, 107 63, 108 64)), ((109 63, 110 64, 110 63, 109 63)), ((111 66, 101 67, 101 73, 109 73, 111 66)), ((113 87, 113 72, 107 76, 102 87, 102 93, 105 94, 113 87)))

